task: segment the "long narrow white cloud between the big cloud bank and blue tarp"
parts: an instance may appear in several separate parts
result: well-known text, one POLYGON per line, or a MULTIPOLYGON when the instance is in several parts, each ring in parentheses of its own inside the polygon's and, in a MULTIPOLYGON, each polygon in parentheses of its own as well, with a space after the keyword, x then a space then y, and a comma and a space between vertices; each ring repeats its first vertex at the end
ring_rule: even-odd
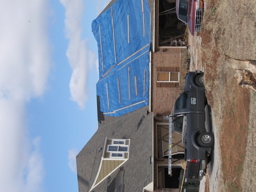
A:
POLYGON ((70 79, 71 100, 84 109, 87 101, 88 72, 95 62, 95 53, 87 47, 88 42, 81 39, 83 0, 60 0, 66 9, 65 34, 70 40, 66 55, 73 70, 70 79))

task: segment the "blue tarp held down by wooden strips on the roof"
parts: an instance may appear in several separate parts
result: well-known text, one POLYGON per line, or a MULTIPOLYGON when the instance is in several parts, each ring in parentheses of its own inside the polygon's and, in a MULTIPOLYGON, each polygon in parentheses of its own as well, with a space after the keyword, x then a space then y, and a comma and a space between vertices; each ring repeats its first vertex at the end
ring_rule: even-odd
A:
POLYGON ((92 32, 98 43, 100 110, 105 115, 121 116, 147 106, 151 38, 148 1, 117 0, 92 22, 92 32))

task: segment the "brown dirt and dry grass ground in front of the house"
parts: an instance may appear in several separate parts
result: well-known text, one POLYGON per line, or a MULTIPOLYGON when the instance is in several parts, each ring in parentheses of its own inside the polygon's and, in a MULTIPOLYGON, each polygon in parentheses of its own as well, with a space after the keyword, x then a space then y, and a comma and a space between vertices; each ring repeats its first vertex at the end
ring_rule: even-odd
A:
POLYGON ((207 98, 218 133, 218 191, 254 191, 256 93, 237 84, 236 70, 227 59, 255 63, 256 1, 206 0, 202 32, 190 43, 194 63, 190 70, 205 72, 207 98))

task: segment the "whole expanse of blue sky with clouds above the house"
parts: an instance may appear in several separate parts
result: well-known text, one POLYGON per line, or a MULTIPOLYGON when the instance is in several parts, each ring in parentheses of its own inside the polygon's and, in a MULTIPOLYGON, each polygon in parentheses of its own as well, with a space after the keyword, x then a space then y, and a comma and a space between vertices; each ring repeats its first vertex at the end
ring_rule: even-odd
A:
POLYGON ((110 0, 0 7, 0 191, 78 191, 75 157, 98 127, 91 23, 110 0))

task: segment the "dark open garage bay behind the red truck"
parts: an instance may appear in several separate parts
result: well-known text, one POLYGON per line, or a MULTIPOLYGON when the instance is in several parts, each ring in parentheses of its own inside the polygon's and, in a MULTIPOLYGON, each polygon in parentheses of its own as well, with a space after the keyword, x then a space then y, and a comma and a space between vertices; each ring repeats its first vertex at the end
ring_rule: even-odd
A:
POLYGON ((158 47, 186 46, 185 30, 176 16, 175 0, 159 0, 158 47))

